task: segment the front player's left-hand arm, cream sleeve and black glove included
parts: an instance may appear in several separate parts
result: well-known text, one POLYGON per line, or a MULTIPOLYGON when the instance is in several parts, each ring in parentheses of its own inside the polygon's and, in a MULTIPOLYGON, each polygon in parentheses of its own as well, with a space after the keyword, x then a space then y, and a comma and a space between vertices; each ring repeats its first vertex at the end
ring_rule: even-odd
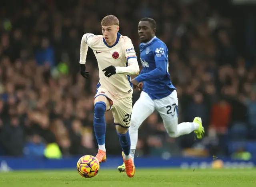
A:
POLYGON ((89 72, 86 72, 86 67, 85 67, 85 61, 86 61, 86 56, 88 52, 88 48, 92 46, 92 38, 94 37, 94 34, 91 33, 86 33, 82 37, 81 44, 80 44, 80 74, 84 78, 89 78, 89 72))

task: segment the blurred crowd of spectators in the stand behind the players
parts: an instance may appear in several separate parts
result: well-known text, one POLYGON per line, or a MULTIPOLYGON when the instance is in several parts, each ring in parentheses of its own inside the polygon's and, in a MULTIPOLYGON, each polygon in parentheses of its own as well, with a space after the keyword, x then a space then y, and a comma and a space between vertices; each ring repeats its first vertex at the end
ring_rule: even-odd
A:
MULTIPOLYGON (((200 116, 206 128, 202 141, 193 133, 173 139, 153 113, 140 128, 138 156, 180 155, 191 147, 228 155, 230 139, 256 139, 256 59, 242 55, 232 19, 206 1, 9 0, 0 12, 0 155, 43 156, 52 143, 63 156, 96 154, 98 68, 88 50, 92 77, 80 76, 80 41, 85 33, 101 34, 108 14, 119 18, 138 56, 138 21, 156 20, 156 36, 169 49, 179 121, 200 116)), ((108 154, 120 155, 111 112, 106 123, 108 154)))

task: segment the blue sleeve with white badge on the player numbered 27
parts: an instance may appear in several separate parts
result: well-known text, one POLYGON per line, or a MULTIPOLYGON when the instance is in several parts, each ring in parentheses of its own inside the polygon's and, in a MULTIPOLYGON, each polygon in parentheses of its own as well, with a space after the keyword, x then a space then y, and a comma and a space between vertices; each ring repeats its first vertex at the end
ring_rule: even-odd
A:
POLYGON ((166 75, 168 67, 167 50, 164 50, 163 45, 157 45, 154 48, 154 60, 156 62, 156 68, 148 73, 140 74, 135 79, 137 82, 143 82, 151 79, 158 79, 166 75))

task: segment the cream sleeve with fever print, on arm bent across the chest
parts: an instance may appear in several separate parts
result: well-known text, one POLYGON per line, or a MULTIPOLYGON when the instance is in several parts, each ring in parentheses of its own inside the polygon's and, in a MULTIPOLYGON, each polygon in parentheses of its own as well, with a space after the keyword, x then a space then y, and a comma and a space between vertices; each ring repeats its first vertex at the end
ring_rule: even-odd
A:
POLYGON ((138 75, 140 67, 131 41, 124 46, 124 55, 127 61, 126 67, 116 67, 116 74, 138 75))

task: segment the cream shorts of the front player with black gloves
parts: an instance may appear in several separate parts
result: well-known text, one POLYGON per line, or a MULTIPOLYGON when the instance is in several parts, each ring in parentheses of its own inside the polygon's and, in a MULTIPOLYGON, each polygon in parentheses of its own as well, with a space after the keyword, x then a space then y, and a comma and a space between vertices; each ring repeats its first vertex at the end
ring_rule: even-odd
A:
POLYGON ((98 88, 94 99, 99 95, 104 95, 110 101, 110 108, 107 110, 112 111, 114 124, 124 128, 129 128, 132 114, 132 97, 116 99, 105 88, 98 88))

